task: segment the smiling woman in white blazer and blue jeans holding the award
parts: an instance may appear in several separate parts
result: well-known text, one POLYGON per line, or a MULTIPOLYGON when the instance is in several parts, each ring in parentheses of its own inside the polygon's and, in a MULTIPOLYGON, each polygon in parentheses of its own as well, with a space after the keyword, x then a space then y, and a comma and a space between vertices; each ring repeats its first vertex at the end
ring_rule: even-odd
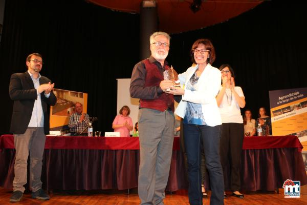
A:
POLYGON ((168 93, 182 95, 175 113, 183 118, 184 145, 188 159, 189 202, 203 204, 200 156, 203 143, 206 167, 211 185, 210 204, 224 204, 224 180, 220 162, 220 130, 222 125, 216 95, 221 86, 221 72, 211 66, 215 50, 208 39, 198 39, 192 45, 195 66, 179 74, 183 88, 168 93))

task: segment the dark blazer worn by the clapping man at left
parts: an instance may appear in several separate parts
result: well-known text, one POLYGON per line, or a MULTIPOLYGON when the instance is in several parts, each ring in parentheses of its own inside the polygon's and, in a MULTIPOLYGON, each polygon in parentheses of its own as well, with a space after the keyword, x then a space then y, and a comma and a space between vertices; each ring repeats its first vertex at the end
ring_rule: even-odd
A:
MULTIPOLYGON (((49 82, 51 82, 51 80, 45 76, 39 78, 40 85, 49 82)), ((33 80, 28 71, 11 75, 9 92, 11 99, 14 100, 10 132, 14 134, 24 134, 31 119, 34 101, 37 98, 33 80)), ((40 97, 44 116, 43 128, 45 134, 49 134, 49 113, 47 111, 47 106, 55 105, 56 96, 53 94, 53 91, 51 91, 49 98, 45 97, 45 92, 42 92, 40 97)))

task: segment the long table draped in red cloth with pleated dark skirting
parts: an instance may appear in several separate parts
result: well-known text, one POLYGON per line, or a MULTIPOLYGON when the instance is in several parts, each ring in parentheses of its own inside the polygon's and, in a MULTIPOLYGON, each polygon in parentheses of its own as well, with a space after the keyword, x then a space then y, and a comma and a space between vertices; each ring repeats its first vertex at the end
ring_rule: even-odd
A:
MULTIPOLYGON (((184 154, 174 137, 167 191, 187 189, 184 154)), ((297 136, 245 137, 242 150, 242 189, 282 188, 284 180, 307 184, 297 136)), ((0 137, 0 186, 12 189, 14 137, 0 137)), ((47 190, 131 189, 138 187, 138 137, 47 136, 41 180, 47 190)), ((208 176, 207 176, 208 177, 208 176)), ((207 178, 206 177, 206 178, 207 178)), ((226 176, 226 190, 229 185, 226 176)), ((208 181, 208 180, 206 180, 208 181)), ((29 185, 26 185, 29 187, 29 185)), ((206 183, 209 189, 208 182, 206 183)))

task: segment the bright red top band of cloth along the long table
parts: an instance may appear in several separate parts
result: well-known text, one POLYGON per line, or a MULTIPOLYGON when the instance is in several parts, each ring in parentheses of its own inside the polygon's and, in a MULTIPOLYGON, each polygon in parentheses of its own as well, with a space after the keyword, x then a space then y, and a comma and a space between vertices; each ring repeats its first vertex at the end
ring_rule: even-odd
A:
MULTIPOLYGON (((174 137, 173 150, 180 149, 179 137, 174 137)), ((0 150, 14 149, 13 135, 0 137, 0 150)), ((298 148, 303 146, 297 136, 244 137, 243 150, 298 148)), ((139 137, 70 137, 47 136, 45 149, 139 150, 139 137)))

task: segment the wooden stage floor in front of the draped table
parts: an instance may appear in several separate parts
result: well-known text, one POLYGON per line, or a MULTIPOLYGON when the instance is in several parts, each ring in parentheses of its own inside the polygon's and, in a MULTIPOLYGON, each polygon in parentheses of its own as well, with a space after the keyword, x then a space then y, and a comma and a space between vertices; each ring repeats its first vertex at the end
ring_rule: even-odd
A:
MULTIPOLYGON (((305 205, 307 204, 307 185, 302 186, 300 190, 300 198, 284 198, 283 189, 279 189, 279 194, 276 192, 249 192, 245 193, 244 199, 239 199, 230 196, 230 192, 226 192, 228 198, 226 198, 225 204, 270 204, 270 205, 305 205)), ((12 190, 4 189, 0 187, 0 204, 104 204, 104 205, 137 205, 140 203, 137 189, 129 190, 93 190, 93 191, 61 191, 54 190, 50 192, 51 199, 47 201, 41 201, 31 198, 31 193, 25 193, 23 199, 17 203, 10 203, 9 198, 12 194, 12 190)), ((208 192, 210 197, 210 192, 208 192)), ((209 204, 209 198, 203 199, 203 204, 209 204)), ((164 199, 165 205, 188 205, 188 194, 186 190, 179 190, 176 192, 166 193, 164 199)))

